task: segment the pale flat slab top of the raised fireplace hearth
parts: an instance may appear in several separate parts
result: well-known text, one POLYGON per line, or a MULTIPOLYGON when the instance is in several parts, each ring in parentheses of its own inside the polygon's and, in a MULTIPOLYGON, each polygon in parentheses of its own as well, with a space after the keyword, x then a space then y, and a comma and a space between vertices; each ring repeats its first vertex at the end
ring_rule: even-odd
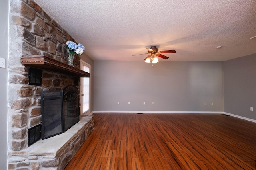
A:
POLYGON ((65 133, 50 137, 48 139, 40 140, 28 147, 29 156, 45 156, 48 158, 55 158, 62 152, 62 150, 68 145, 78 134, 84 126, 90 122, 93 115, 81 116, 80 121, 68 129, 65 133), (48 156, 47 156, 48 155, 48 156))

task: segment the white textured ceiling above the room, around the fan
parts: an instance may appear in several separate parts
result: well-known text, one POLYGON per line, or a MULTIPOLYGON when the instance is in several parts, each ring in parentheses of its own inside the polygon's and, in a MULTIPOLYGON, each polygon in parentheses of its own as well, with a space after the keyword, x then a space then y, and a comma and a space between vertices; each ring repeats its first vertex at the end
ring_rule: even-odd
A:
POLYGON ((256 53, 256 0, 35 0, 94 60, 226 61, 256 53), (217 46, 222 48, 217 49, 217 46), (159 59, 164 60, 164 59, 159 59))

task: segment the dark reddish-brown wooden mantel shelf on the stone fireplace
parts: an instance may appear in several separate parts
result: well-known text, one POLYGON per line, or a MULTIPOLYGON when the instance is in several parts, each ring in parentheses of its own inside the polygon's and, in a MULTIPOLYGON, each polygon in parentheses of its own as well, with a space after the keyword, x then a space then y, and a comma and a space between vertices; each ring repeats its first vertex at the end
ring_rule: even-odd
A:
POLYGON ((88 72, 74 68, 44 55, 22 55, 21 64, 42 70, 59 72, 70 76, 90 77, 90 73, 88 72))

